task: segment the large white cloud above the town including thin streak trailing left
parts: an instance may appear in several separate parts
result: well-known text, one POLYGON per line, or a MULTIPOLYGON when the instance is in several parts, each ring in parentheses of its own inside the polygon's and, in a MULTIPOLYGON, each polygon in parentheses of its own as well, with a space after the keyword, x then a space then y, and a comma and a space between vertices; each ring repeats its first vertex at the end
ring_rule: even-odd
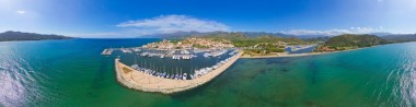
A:
POLYGON ((69 34, 73 37, 85 38, 119 38, 139 37, 153 34, 169 34, 175 32, 228 32, 229 26, 209 20, 200 20, 187 15, 161 15, 152 19, 127 21, 116 25, 113 32, 97 32, 84 34, 69 34))

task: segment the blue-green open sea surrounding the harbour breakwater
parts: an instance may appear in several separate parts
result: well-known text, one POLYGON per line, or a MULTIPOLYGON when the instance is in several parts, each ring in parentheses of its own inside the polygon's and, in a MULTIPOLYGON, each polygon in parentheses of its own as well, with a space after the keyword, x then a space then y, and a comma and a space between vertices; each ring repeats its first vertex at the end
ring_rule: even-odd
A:
POLYGON ((414 107, 416 43, 321 56, 240 59, 200 87, 163 95, 115 79, 104 48, 159 39, 0 43, 0 106, 414 107))

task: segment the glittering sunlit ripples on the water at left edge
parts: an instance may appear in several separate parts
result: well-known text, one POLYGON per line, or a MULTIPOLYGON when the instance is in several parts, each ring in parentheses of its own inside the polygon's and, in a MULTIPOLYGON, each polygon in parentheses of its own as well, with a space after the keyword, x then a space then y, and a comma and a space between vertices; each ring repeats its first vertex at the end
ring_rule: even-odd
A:
MULTIPOLYGON (((0 47, 4 48, 4 47, 0 47)), ((0 104, 3 106, 28 106, 27 102, 41 99, 42 86, 36 85, 36 72, 21 58, 15 49, 1 49, 0 104)))

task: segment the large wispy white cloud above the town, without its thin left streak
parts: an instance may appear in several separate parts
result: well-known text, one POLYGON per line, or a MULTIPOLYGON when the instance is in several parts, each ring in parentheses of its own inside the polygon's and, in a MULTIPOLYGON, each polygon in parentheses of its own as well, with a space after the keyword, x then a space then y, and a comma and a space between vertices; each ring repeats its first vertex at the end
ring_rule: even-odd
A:
POLYGON ((152 19, 123 22, 118 27, 139 29, 142 34, 163 34, 174 32, 215 32, 230 31, 230 27, 209 20, 200 20, 187 15, 161 15, 152 19))

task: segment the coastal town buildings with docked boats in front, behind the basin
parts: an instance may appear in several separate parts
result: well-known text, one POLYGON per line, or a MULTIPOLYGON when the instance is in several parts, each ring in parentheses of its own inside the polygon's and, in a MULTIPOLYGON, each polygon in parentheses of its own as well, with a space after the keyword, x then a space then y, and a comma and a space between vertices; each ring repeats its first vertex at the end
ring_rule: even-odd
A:
POLYGON ((228 40, 212 40, 205 38, 186 38, 184 40, 167 40, 150 43, 141 47, 132 48, 108 48, 102 55, 112 55, 115 50, 123 52, 140 51, 142 57, 160 57, 172 59, 192 59, 195 54, 205 52, 204 57, 217 57, 226 52, 227 49, 235 49, 228 40))

